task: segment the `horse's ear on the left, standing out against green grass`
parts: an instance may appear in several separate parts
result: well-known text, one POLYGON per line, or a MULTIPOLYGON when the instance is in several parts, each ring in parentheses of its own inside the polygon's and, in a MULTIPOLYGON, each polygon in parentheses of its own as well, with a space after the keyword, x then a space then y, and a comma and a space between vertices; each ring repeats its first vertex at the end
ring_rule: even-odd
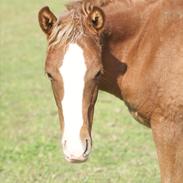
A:
POLYGON ((50 35, 55 22, 56 16, 50 11, 49 7, 43 7, 38 14, 39 25, 46 35, 50 35))

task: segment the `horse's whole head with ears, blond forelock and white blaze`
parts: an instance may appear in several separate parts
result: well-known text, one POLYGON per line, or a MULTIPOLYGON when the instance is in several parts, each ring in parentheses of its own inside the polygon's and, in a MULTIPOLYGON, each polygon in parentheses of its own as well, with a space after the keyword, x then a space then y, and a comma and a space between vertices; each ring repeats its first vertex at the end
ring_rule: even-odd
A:
POLYGON ((89 8, 83 14, 71 10, 59 20, 47 7, 39 13, 49 41, 45 70, 51 79, 69 162, 85 161, 91 151, 93 111, 102 74, 104 16, 99 8, 89 8))

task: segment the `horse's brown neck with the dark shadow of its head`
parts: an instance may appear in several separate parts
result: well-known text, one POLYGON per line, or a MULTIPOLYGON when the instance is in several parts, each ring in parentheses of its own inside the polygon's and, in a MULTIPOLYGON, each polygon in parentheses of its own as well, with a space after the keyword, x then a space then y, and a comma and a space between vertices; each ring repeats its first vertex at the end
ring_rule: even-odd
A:
POLYGON ((129 69, 129 55, 138 42, 153 6, 154 3, 139 1, 130 7, 118 1, 104 9, 108 38, 103 48, 104 75, 100 83, 101 90, 123 98, 121 83, 129 69))

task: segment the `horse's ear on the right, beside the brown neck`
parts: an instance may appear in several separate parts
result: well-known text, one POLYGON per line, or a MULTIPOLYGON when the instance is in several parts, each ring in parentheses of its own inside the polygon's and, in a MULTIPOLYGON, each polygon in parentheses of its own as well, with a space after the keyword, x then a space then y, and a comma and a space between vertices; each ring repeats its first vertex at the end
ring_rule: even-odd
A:
POLYGON ((92 7, 92 10, 88 15, 88 21, 95 31, 100 32, 103 30, 105 24, 105 15, 103 10, 96 6, 92 7))

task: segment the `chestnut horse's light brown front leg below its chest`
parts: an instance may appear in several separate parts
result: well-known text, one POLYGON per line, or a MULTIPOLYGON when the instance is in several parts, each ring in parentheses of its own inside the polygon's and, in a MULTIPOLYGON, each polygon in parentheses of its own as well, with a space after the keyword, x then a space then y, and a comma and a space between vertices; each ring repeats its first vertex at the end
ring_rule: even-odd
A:
MULTIPOLYGON (((159 121, 159 122, 157 122, 159 121)), ((183 121, 151 123, 162 183, 183 183, 183 121)))

